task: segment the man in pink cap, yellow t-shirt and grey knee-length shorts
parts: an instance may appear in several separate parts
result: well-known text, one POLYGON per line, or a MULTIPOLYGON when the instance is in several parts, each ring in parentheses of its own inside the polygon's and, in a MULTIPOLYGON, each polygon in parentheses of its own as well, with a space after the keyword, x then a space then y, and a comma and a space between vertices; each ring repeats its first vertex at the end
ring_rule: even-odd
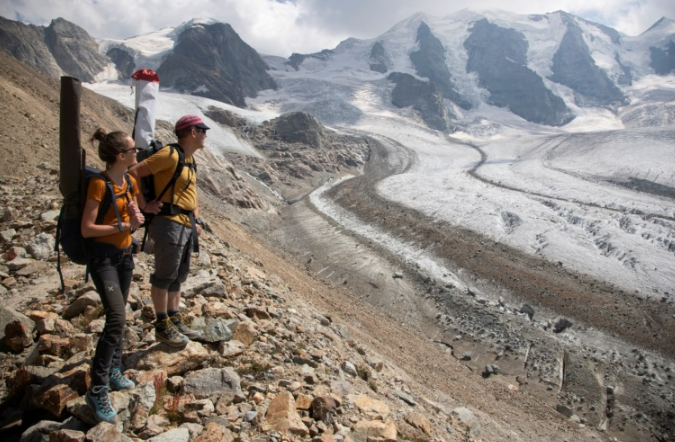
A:
POLYGON ((139 204, 144 213, 155 215, 149 225, 155 255, 155 270, 150 276, 157 316, 155 338, 172 347, 184 347, 191 339, 200 337, 180 313, 180 289, 190 270, 190 256, 198 251, 197 237, 202 232, 193 155, 204 148, 207 130, 209 127, 200 117, 181 117, 175 126, 178 143, 163 147, 129 170, 137 180, 153 175, 155 195, 170 189, 154 201, 145 201, 141 193, 139 204), (173 186, 167 187, 181 156, 184 167, 173 186))

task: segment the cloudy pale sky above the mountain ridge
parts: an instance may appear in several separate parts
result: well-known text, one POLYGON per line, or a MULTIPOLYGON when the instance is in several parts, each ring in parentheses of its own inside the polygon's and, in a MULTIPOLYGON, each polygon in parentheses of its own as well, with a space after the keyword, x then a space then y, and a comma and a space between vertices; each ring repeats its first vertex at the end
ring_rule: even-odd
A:
POLYGON ((444 17, 461 9, 519 14, 563 10, 639 35, 661 17, 675 20, 673 0, 4 0, 0 16, 47 26, 61 17, 95 38, 125 39, 192 18, 229 23, 266 55, 332 49, 349 37, 378 37, 416 12, 444 17))

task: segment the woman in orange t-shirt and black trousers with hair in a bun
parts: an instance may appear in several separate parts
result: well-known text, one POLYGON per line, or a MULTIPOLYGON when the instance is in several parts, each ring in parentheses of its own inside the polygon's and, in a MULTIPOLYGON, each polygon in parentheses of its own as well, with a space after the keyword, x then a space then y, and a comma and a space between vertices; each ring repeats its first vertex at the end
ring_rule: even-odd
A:
POLYGON ((92 360, 91 388, 86 400, 100 421, 114 423, 117 412, 110 403, 109 390, 133 388, 133 381, 121 371, 126 303, 134 269, 131 231, 143 224, 136 197, 138 184, 127 175, 136 164, 138 148, 126 133, 106 133, 99 128, 90 140, 98 141, 98 155, 105 161, 105 179, 89 180, 87 201, 82 215, 82 236, 90 238, 88 269, 105 308, 105 328, 92 360), (106 182, 107 181, 107 182, 106 182), (113 189, 114 198, 110 195, 113 189), (108 195, 106 195, 108 193, 108 195), (106 213, 99 214, 101 202, 110 201, 106 213))

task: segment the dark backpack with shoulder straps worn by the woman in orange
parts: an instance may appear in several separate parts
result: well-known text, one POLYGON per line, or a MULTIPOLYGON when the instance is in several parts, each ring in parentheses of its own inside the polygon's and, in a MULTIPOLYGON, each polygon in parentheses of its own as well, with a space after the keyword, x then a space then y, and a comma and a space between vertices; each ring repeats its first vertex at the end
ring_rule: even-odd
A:
MULTIPOLYGON (((89 255, 92 252, 93 238, 84 238, 82 236, 82 213, 87 200, 87 189, 92 179, 99 178, 105 182, 105 195, 99 204, 98 215, 96 216, 96 224, 101 224, 108 210, 112 206, 117 217, 117 225, 122 225, 122 218, 120 217, 117 208, 117 200, 125 197, 127 201, 131 201, 131 195, 134 193, 133 183, 128 174, 124 174, 124 179, 127 182, 127 190, 125 193, 115 195, 113 183, 110 179, 101 173, 98 169, 92 167, 84 167, 80 173, 81 185, 79 190, 74 194, 64 198, 61 211, 59 212, 58 222, 56 224, 56 242, 54 250, 58 254, 56 269, 61 280, 61 290, 65 289, 63 274, 61 272, 61 249, 66 256, 75 264, 86 265, 89 255)), ((89 269, 85 270, 85 281, 88 279, 89 269)))

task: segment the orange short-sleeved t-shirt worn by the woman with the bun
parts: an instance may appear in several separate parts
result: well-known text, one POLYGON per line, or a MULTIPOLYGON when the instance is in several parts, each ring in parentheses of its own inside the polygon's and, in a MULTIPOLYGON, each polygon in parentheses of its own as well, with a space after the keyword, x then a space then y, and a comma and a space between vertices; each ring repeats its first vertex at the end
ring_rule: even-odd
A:
MULTIPOLYGON (((105 172, 104 172, 105 173, 105 172)), ((133 196, 138 195, 138 184, 136 184, 136 180, 134 177, 129 176, 131 179, 131 183, 133 185, 133 194, 129 196, 129 198, 133 198, 133 196)), ((117 184, 112 183, 113 186, 113 191, 115 192, 115 195, 125 195, 127 193, 127 181, 126 179, 124 180, 124 184, 122 187, 119 187, 117 184)), ((103 201, 103 197, 105 196, 106 193, 106 185, 105 181, 103 181, 100 178, 92 178, 89 181, 89 188, 87 189, 87 199, 88 200, 96 200, 99 202, 99 204, 103 201)), ((127 199, 122 196, 120 198, 117 198, 117 210, 120 212, 120 218, 122 219, 122 222, 129 222, 129 212, 127 211, 127 199)), ((110 225, 110 226, 117 226, 117 216, 115 215, 115 209, 113 208, 112 204, 110 205, 110 208, 108 209, 108 212, 103 216, 103 220, 101 221, 102 225, 110 225)), ((124 232, 115 232, 111 235, 105 235, 105 236, 99 236, 97 238, 94 238, 95 242, 103 242, 107 244, 113 244, 119 249, 124 249, 129 246, 131 246, 131 232, 129 230, 125 230, 124 232)))

